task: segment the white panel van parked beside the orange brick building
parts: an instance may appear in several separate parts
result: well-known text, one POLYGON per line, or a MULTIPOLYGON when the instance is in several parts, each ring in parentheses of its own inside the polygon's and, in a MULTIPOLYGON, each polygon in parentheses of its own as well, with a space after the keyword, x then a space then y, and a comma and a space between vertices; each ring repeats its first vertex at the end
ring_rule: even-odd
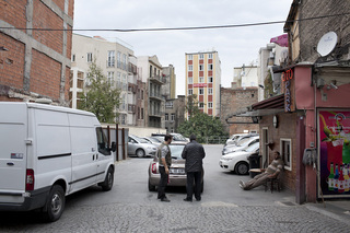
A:
POLYGON ((0 102, 0 211, 42 209, 56 221, 66 196, 92 185, 110 190, 115 142, 96 116, 35 103, 0 102))

